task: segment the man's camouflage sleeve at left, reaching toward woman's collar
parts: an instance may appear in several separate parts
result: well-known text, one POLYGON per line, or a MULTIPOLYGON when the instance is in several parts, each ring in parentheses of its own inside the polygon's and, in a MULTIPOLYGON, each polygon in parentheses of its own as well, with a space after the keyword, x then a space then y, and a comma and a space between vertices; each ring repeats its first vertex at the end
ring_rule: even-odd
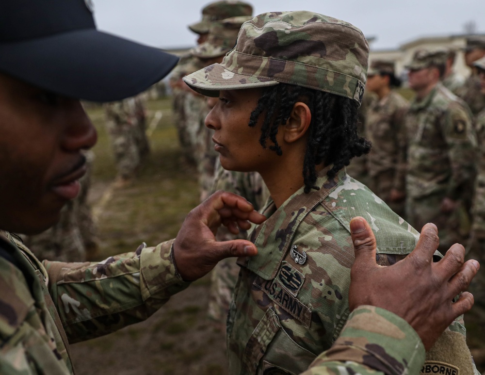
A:
POLYGON ((173 240, 99 263, 44 261, 49 293, 69 342, 145 320, 185 289, 172 259, 173 240))

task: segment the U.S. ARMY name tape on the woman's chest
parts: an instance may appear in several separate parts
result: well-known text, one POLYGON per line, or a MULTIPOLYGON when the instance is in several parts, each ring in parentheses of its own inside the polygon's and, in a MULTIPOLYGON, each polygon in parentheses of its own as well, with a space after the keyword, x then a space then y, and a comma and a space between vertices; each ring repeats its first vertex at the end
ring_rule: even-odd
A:
POLYGON ((277 277, 273 280, 265 280, 256 277, 253 285, 265 293, 268 298, 281 309, 288 312, 293 318, 309 328, 311 323, 311 310, 280 284, 277 277))

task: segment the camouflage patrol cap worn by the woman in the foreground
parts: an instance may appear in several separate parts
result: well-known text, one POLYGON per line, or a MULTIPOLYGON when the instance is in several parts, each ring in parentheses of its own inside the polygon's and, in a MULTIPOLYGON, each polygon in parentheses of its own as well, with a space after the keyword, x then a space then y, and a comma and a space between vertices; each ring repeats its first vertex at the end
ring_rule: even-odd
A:
POLYGON ((184 77, 195 91, 263 87, 279 82, 326 91, 360 103, 369 45, 348 22, 307 12, 271 12, 242 25, 221 64, 184 77))

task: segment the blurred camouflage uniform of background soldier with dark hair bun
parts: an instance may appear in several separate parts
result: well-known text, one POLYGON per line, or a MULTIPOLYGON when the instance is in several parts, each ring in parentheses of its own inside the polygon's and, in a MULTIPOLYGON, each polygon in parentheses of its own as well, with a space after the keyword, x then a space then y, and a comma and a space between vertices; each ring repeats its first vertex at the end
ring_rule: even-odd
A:
POLYGON ((391 202, 389 196, 392 189, 405 192, 407 108, 406 100, 391 91, 374 101, 366 114, 367 139, 372 143, 367 158, 368 186, 400 215, 404 215, 404 200, 391 202))

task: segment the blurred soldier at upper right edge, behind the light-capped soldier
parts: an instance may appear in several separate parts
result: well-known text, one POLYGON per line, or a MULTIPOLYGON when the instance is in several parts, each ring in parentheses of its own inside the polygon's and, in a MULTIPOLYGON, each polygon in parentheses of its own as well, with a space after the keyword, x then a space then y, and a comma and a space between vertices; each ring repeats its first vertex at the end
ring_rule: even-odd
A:
POLYGON ((465 63, 471 69, 471 74, 458 89, 457 95, 467 102, 471 112, 476 115, 485 106, 485 98, 480 94, 480 79, 473 63, 485 56, 485 36, 470 36, 467 39, 465 63))

